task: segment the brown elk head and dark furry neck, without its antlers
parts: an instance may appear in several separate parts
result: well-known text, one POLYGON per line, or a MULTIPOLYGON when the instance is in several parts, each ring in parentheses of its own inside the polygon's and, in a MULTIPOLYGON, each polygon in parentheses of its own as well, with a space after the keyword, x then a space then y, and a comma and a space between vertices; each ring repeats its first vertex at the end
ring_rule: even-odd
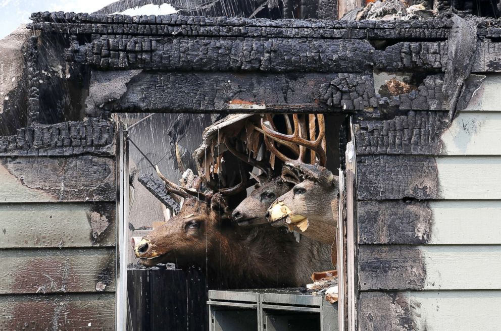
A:
MULTIPOLYGON (((148 248, 138 254, 144 265, 175 262, 181 267, 207 266, 211 288, 297 287, 305 274, 291 266, 294 237, 268 225, 238 227, 221 219, 205 202, 186 200, 181 212, 144 237, 148 248), (196 226, 193 226, 196 224, 196 226), (145 258, 158 256, 153 260, 145 258)), ((316 248, 312 248, 315 250, 316 248)))

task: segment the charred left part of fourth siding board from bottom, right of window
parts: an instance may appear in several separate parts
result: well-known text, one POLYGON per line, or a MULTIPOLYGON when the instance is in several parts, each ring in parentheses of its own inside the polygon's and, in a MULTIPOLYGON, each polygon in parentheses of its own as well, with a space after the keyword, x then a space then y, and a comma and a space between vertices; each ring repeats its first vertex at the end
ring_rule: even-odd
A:
POLYGON ((361 200, 438 197, 437 165, 429 156, 360 155, 357 178, 361 200))

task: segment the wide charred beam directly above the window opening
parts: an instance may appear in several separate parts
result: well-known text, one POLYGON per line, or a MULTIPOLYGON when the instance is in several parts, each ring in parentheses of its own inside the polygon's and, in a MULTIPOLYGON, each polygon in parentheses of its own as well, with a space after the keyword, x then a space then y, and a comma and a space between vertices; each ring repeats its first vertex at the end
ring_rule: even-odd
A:
MULTIPOLYGON (((91 91, 99 90, 101 85, 107 85, 109 76, 114 73, 105 72, 96 76, 95 81, 92 81, 95 87, 91 87, 91 91)), ((114 98, 109 97, 103 107, 97 110, 163 113, 228 109, 237 112, 238 108, 241 108, 240 111, 248 112, 255 107, 256 111, 266 112, 268 108, 274 109, 279 105, 282 105, 284 109, 309 105, 320 111, 322 108, 319 100, 321 102, 325 100, 324 104, 336 107, 341 106, 341 99, 347 99, 345 102, 353 104, 350 101, 352 90, 360 93, 360 97, 355 100, 357 104, 359 98, 361 100, 361 107, 358 108, 363 108, 363 101, 367 104, 369 96, 375 102, 371 80, 360 74, 249 73, 241 75, 236 73, 141 72, 130 80, 127 75, 123 79, 126 80, 127 89, 117 91, 114 98), (351 84, 344 83, 343 85, 348 78, 351 84), (364 81, 364 78, 367 81, 364 81), (336 84, 341 87, 337 87, 336 84), (339 89, 342 89, 342 92, 339 89), (370 93, 372 94, 369 95, 370 93), (337 99, 333 99, 333 96, 337 96, 337 99)), ((125 86, 125 83, 123 85, 125 86)), ((92 94, 89 97, 92 98, 92 94)), ((353 105, 349 108, 353 109, 353 105)))

